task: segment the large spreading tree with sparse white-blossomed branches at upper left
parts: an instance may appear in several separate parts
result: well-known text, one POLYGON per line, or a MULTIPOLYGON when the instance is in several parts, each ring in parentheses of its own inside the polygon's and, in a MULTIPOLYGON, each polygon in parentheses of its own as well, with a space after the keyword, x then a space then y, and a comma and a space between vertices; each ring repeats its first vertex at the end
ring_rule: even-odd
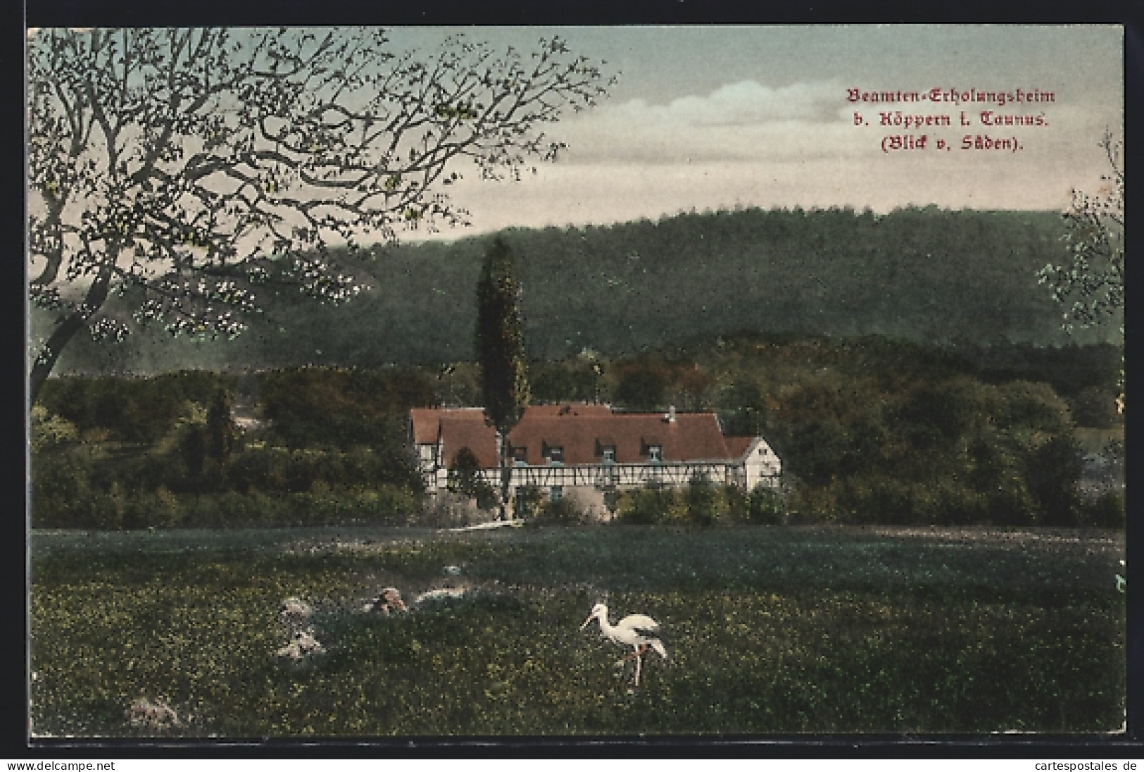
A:
POLYGON ((331 246, 466 224, 459 162, 535 171, 565 147, 545 124, 614 81, 558 39, 395 53, 376 29, 38 30, 27 57, 29 290, 55 313, 33 401, 82 330, 233 337, 267 284, 348 300, 331 246))

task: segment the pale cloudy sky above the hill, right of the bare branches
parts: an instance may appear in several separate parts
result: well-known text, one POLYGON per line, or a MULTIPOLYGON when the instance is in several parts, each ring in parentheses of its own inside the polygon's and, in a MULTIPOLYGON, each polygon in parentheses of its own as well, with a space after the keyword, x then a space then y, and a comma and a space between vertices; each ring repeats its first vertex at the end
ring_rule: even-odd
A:
POLYGON ((740 206, 1059 211, 1073 188, 1102 184, 1104 131, 1123 133, 1123 36, 1112 25, 400 27, 392 41, 426 48, 458 31, 522 49, 558 34, 619 81, 549 128, 570 145, 557 163, 519 183, 469 174, 455 186, 472 224, 442 238, 740 206), (852 102, 851 89, 1052 100, 852 102), (898 110, 951 125, 895 125, 898 110), (984 125, 983 111, 1034 125, 984 125), (923 149, 885 144, 923 135, 923 149), (1019 149, 963 150, 966 136, 1019 149))

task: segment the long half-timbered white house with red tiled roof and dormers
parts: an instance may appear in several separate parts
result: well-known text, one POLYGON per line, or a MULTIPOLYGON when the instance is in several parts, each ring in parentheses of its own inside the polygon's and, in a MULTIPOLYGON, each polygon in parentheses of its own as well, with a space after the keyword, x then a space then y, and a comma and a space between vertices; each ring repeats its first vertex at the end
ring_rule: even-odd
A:
MULTIPOLYGON (((467 448, 478 474, 500 488, 500 438, 480 408, 410 411, 410 442, 430 493, 467 448)), ((750 490, 777 487, 782 465, 761 436, 725 436, 715 413, 613 412, 606 404, 530 405, 508 435, 509 486, 603 509, 610 490, 684 486, 697 476, 750 490)))

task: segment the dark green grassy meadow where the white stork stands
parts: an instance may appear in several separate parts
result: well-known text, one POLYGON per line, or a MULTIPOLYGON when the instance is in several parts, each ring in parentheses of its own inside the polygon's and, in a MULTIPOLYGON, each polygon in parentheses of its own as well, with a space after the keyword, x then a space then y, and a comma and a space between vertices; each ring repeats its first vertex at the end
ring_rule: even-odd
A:
MULTIPOLYGON (((1123 536, 754 527, 39 531, 37 735, 1106 732, 1123 536), (448 567, 448 568, 446 568, 448 567), (406 599, 453 602, 382 616, 406 599), (294 662, 284 598, 325 652, 294 662), (638 688, 593 624, 650 614, 638 688), (134 701, 177 724, 128 720, 134 701), (169 718, 169 715, 167 716, 169 718)), ((169 722, 168 722, 169 723, 169 722)))

